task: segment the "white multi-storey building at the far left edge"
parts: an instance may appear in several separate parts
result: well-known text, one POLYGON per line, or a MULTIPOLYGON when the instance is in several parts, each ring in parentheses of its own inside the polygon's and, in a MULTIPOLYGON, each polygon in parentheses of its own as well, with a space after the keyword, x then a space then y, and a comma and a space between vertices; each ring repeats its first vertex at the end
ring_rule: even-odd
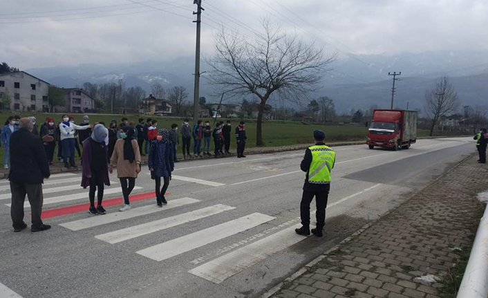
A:
POLYGON ((25 71, 0 75, 0 100, 8 94, 10 110, 47 111, 49 83, 25 71))

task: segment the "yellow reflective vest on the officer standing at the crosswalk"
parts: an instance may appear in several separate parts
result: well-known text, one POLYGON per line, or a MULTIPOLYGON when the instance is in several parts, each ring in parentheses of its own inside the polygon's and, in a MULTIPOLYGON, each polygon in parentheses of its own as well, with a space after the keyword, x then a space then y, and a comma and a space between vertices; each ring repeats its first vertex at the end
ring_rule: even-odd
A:
POLYGON ((312 152, 312 163, 308 169, 308 183, 329 184, 330 171, 335 163, 334 150, 326 145, 315 145, 308 149, 312 152))

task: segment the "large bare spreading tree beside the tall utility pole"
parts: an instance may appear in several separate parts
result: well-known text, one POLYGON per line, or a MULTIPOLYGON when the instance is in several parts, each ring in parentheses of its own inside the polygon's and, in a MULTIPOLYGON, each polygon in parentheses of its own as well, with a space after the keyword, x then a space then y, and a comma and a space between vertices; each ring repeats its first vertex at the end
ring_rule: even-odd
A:
POLYGON ((299 101, 315 90, 326 66, 335 55, 324 59, 323 50, 288 35, 270 21, 262 22, 263 32, 246 38, 224 29, 216 35, 216 55, 208 59, 210 82, 234 95, 258 97, 256 145, 263 145, 263 113, 275 91, 281 98, 299 101))

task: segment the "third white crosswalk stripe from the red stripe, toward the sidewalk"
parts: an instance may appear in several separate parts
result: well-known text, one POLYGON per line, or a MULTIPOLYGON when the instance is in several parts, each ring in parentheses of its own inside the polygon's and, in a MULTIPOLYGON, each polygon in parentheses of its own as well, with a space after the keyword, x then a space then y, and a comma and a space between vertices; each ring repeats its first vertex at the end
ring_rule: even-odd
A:
POLYGON ((273 216, 253 213, 241 218, 236 218, 232 221, 227 221, 227 223, 214 225, 208 229, 200 230, 171 241, 151 246, 150 248, 144 248, 144 250, 139 250, 136 253, 155 261, 162 261, 175 257, 178 254, 189 252, 195 248, 200 248, 201 246, 214 241, 227 238, 228 236, 244 232, 252 227, 272 221, 273 219, 273 216))

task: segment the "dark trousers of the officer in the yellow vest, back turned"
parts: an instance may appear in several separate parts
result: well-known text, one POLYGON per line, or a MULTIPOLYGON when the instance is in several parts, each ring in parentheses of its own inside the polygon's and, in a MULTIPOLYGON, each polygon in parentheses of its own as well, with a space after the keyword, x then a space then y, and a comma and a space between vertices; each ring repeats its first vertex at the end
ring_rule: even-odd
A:
MULTIPOLYGON (((317 187, 318 188, 318 187, 317 187)), ((326 225, 326 207, 329 196, 330 185, 323 185, 320 190, 306 190, 303 189, 303 195, 300 203, 301 224, 310 226, 310 203, 315 196, 315 203, 317 203, 317 227, 326 225)))

